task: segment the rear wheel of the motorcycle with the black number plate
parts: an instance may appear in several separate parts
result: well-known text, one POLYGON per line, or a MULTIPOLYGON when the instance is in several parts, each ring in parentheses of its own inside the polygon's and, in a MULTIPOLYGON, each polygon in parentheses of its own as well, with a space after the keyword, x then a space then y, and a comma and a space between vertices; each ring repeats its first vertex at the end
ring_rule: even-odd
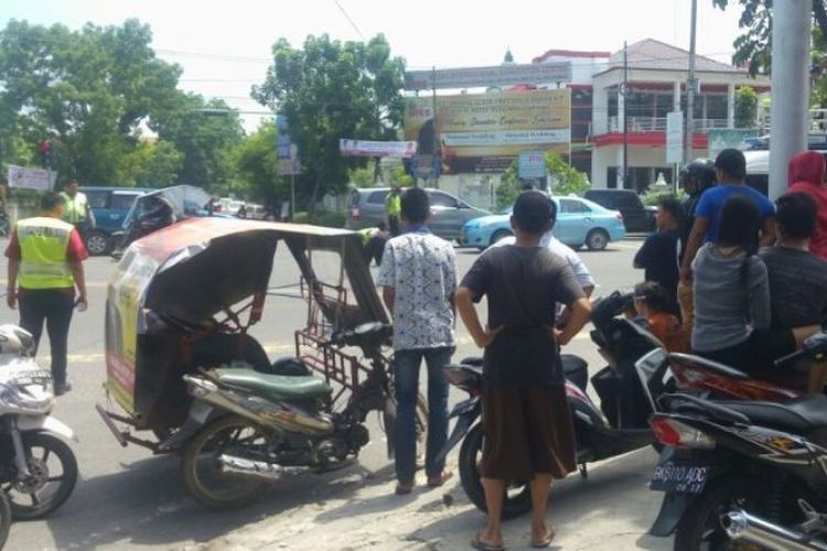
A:
POLYGON ((675 551, 751 549, 729 539, 720 517, 733 505, 754 508, 762 500, 762 488, 764 484, 747 476, 727 477, 711 484, 680 517, 675 551))

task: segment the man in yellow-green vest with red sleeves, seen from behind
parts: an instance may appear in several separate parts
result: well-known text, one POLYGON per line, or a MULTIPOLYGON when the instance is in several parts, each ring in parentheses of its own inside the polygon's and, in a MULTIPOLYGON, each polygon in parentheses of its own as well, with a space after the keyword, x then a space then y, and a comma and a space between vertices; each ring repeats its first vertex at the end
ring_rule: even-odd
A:
POLYGON ((88 255, 77 229, 62 220, 63 204, 56 193, 43 195, 40 216, 19 220, 6 249, 7 302, 12 310, 20 302, 20 326, 34 336, 35 343, 40 343, 45 322, 56 396, 72 390, 66 380, 68 329, 75 304, 80 311, 87 306, 83 261, 88 255))

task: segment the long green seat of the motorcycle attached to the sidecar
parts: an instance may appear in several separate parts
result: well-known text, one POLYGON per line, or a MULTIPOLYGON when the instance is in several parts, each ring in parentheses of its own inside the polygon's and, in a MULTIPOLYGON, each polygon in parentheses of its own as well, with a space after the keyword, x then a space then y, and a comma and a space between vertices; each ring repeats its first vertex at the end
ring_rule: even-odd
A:
POLYGON ((253 369, 215 369, 225 385, 246 388, 258 395, 281 400, 312 400, 323 398, 332 389, 316 377, 268 375, 253 369))

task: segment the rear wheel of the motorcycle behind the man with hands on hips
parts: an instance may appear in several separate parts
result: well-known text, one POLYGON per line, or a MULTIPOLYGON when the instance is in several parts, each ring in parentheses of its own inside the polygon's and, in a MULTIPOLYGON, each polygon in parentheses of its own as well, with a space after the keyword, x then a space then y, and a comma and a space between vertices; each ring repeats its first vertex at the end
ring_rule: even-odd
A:
MULTIPOLYGON (((477 463, 482 457, 483 426, 477 423, 465 435, 460 447, 460 482, 471 503, 483 512, 487 512, 485 506, 485 490, 480 478, 477 463)), ((531 488, 528 482, 505 483, 505 496, 503 496, 503 519, 509 519, 525 515, 531 510, 531 488)))

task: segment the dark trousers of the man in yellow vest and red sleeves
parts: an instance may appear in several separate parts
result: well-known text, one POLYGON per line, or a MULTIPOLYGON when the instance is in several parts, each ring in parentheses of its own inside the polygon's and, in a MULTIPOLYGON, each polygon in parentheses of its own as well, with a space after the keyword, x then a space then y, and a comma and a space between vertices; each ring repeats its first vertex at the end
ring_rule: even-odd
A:
POLYGON ((58 289, 20 292, 20 326, 34 336, 37 345, 43 334, 43 322, 46 323, 52 349, 52 379, 55 386, 66 382, 68 329, 74 309, 74 292, 58 289))

